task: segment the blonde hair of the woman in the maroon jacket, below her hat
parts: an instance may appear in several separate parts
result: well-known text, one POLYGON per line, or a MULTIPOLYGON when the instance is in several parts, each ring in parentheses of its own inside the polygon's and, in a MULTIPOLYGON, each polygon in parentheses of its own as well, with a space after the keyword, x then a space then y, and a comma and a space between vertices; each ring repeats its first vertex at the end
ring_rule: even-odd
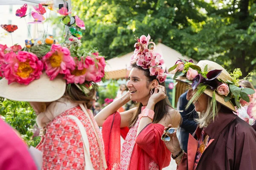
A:
MULTIPOLYGON (((210 122, 214 119, 214 114, 212 112, 212 98, 208 96, 208 104, 207 104, 207 109, 203 113, 198 113, 198 119, 195 119, 195 121, 198 123, 198 126, 200 128, 207 127, 210 122)), ((221 104, 217 102, 217 110, 216 113, 221 110, 221 104)))

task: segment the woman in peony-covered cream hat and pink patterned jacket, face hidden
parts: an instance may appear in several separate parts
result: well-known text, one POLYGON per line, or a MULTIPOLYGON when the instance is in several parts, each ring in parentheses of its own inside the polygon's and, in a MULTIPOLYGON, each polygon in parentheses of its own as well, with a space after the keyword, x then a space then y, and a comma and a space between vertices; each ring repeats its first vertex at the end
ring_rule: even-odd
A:
POLYGON ((72 39, 76 41, 34 46, 34 53, 1 45, 0 96, 34 108, 42 170, 105 170, 101 133, 89 110, 105 59, 96 51, 80 50, 79 40, 72 39), (42 48, 48 50, 44 55, 42 48), (71 56, 71 51, 76 53, 71 56))

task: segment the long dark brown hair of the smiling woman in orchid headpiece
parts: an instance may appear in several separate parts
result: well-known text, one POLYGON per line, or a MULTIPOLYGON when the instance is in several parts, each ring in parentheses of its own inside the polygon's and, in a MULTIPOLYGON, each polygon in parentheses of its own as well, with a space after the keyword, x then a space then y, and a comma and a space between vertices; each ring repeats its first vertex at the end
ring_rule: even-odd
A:
MULTIPOLYGON (((150 76, 149 69, 143 69, 142 67, 138 66, 136 64, 136 62, 134 64, 132 64, 131 67, 132 68, 138 68, 138 69, 143 71, 143 74, 148 78, 147 88, 148 88, 150 82, 152 82, 154 79, 157 80, 157 76, 150 76)), ((162 85, 162 86, 165 87, 165 82, 159 83, 159 85, 162 85)), ((166 87, 165 87, 165 91, 166 91, 166 87)), ((138 103, 137 111, 134 113, 134 115, 131 118, 129 128, 131 128, 136 123, 136 121, 138 119, 138 115, 141 112, 142 106, 143 106, 142 103, 138 103)), ((154 106, 154 113, 155 114, 154 114, 153 123, 157 123, 161 119, 163 119, 164 116, 167 116, 167 113, 169 111, 169 107, 173 108, 171 103, 168 100, 168 97, 166 97, 165 99, 157 102, 157 104, 154 106)))

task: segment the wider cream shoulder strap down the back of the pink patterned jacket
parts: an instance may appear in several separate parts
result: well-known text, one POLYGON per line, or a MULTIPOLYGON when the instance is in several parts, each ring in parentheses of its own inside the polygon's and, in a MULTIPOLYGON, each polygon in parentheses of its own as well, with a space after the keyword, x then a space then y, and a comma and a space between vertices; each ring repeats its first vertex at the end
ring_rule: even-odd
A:
POLYGON ((88 136, 87 136, 87 133, 85 131, 84 125, 82 124, 82 122, 76 116, 68 115, 68 117, 70 119, 73 119, 76 122, 76 125, 78 125, 81 136, 82 136, 82 139, 83 139, 83 143, 84 143, 84 161, 85 161, 84 170, 94 170, 93 164, 92 164, 91 159, 90 159, 90 144, 89 144, 88 136))

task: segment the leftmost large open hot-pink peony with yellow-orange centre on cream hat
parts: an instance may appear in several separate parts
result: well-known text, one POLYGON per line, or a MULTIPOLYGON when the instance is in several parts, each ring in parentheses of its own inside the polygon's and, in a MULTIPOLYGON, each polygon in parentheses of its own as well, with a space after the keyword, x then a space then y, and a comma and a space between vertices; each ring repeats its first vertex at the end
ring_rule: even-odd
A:
POLYGON ((39 79, 43 70, 43 63, 38 57, 27 51, 11 51, 5 55, 6 64, 2 65, 3 75, 8 84, 18 82, 28 85, 34 79, 39 79))

